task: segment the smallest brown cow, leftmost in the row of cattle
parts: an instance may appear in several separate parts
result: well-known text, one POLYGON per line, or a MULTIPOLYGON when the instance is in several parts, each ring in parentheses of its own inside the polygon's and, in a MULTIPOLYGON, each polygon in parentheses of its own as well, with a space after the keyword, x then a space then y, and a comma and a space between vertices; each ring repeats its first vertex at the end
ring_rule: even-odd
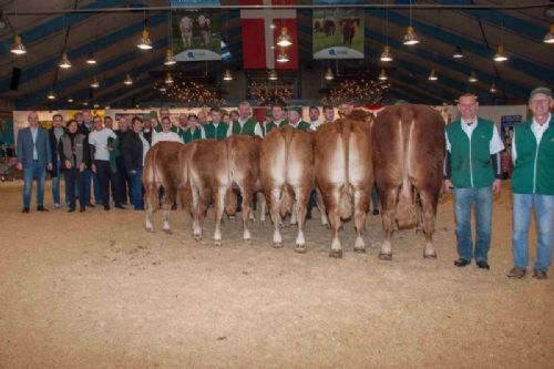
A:
POLYGON ((146 153, 142 184, 146 211, 146 230, 154 232, 153 213, 160 208, 158 191, 164 187, 162 199, 165 233, 171 233, 170 213, 179 186, 178 152, 184 145, 179 142, 158 142, 146 153))

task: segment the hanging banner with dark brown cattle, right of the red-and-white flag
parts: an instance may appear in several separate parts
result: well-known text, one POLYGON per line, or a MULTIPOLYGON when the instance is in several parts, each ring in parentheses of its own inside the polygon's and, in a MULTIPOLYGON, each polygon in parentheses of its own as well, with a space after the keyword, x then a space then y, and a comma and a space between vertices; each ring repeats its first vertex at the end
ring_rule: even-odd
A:
MULTIPOLYGON (((340 4, 365 3, 345 0, 340 4)), ((337 4, 335 0, 314 0, 316 6, 337 4)), ((363 59, 363 10, 315 9, 314 59, 363 59)))

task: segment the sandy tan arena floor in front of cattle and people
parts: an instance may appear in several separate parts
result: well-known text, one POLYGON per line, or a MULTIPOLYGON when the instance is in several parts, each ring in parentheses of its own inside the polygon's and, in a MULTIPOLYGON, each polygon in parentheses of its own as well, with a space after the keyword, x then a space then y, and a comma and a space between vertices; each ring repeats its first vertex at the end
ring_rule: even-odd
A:
MULTIPOLYGON (((377 259, 380 217, 368 254, 328 257, 330 233, 307 226, 308 253, 254 245, 227 221, 213 246, 188 215, 174 234, 144 230, 144 214, 101 209, 21 214, 20 182, 0 184, 1 368, 553 368, 554 270, 550 279, 506 278, 512 266, 507 183, 494 203, 491 270, 456 268, 452 198, 439 206, 437 260, 423 237, 394 237, 377 259)), ((317 213, 316 213, 317 214, 317 213)), ((534 227, 534 225, 533 225, 534 227)), ((534 228, 533 228, 534 229, 534 228)), ((531 243, 535 245, 534 230, 531 243)))

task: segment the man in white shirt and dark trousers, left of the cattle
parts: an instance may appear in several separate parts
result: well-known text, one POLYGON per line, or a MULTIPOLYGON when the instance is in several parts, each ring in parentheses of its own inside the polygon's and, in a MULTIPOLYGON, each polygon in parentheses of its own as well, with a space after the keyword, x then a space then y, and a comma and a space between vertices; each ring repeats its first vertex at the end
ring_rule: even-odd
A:
MULTIPOLYGON (((96 173, 100 183, 100 191, 102 194, 102 204, 104 211, 110 209, 110 151, 109 139, 117 139, 115 133, 103 126, 100 116, 94 117, 94 131, 89 134, 89 144, 94 153, 92 155, 92 172, 96 173)), ((124 208, 120 203, 115 203, 115 207, 124 208)))

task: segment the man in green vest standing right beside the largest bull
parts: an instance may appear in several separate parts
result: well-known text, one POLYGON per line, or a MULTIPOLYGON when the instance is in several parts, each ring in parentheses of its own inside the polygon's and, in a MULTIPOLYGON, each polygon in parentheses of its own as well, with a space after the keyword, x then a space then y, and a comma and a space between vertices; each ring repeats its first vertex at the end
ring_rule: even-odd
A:
POLYGON ((444 160, 444 191, 454 192, 458 267, 474 258, 481 269, 489 269, 491 246, 492 194, 502 185, 500 152, 504 144, 493 122, 476 115, 478 98, 472 93, 460 96, 461 117, 447 125, 447 157, 444 160), (476 237, 473 247, 471 209, 475 208, 476 237))

